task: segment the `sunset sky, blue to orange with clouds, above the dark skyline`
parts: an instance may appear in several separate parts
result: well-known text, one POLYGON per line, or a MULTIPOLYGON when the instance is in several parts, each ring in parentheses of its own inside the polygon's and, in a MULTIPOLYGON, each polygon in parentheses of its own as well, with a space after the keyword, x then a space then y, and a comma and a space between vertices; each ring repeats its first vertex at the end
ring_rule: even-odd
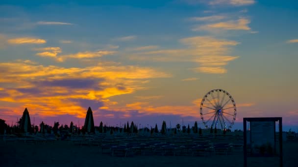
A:
POLYGON ((227 91, 237 115, 298 131, 296 0, 1 0, 0 119, 203 127, 227 91))

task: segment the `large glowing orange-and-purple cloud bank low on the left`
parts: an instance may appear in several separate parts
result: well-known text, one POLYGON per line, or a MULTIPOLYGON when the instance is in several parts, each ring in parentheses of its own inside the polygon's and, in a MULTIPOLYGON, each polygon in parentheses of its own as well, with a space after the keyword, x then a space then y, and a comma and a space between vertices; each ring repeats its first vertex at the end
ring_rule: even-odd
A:
POLYGON ((141 90, 142 81, 150 78, 171 77, 150 67, 99 63, 84 68, 66 68, 24 60, 2 62, 0 71, 0 102, 13 104, 8 109, 18 111, 28 107, 41 116, 67 113, 78 118, 85 117, 86 105, 83 104, 98 108, 116 105, 110 97, 141 90))

